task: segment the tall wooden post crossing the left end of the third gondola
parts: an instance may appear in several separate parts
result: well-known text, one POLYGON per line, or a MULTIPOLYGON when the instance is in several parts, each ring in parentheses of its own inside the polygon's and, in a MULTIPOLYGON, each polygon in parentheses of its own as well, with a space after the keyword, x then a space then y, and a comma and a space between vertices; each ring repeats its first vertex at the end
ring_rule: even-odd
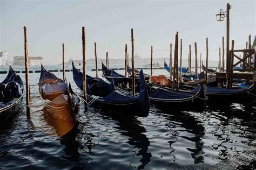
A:
POLYGON ((85 27, 82 27, 82 41, 83 41, 83 91, 84 91, 84 100, 87 103, 86 96, 86 60, 85 60, 85 27))

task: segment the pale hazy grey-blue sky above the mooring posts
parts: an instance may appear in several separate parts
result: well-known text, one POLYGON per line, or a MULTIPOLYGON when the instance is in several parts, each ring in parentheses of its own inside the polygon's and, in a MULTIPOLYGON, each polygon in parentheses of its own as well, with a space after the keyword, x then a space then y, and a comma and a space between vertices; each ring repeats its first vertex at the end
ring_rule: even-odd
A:
MULTIPOLYGON (((206 55, 208 38, 209 60, 218 60, 222 37, 226 42, 226 19, 217 22, 215 15, 226 11, 230 3, 230 40, 235 49, 245 48, 248 35, 255 36, 256 1, 240 0, 179 0, 179 1, 71 1, 71 0, 0 0, 0 51, 24 56, 23 26, 28 28, 29 56, 43 56, 44 63, 62 62, 62 43, 66 60, 82 59, 82 26, 86 30, 86 59, 124 58, 125 44, 131 53, 131 29, 134 53, 149 58, 169 58, 170 43, 175 34, 183 39, 183 59, 188 47, 197 42, 198 56, 206 55)), ((180 44, 179 44, 180 45, 180 44)), ((180 47, 180 46, 179 46, 180 47)))

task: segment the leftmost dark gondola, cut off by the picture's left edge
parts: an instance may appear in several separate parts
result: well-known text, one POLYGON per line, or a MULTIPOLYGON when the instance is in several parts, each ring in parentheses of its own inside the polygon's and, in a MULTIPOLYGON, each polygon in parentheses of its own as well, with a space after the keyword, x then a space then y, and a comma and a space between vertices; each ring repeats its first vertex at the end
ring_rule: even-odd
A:
POLYGON ((22 79, 10 66, 8 75, 0 83, 0 123, 20 108, 23 94, 22 79))

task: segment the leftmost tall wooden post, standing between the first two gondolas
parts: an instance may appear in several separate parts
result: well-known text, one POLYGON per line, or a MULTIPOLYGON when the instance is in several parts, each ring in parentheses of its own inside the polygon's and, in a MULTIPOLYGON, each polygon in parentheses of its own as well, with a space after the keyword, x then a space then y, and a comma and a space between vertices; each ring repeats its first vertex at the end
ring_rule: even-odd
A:
POLYGON ((24 29, 24 53, 25 53, 25 79, 26 79, 26 114, 30 114, 30 87, 29 87, 29 52, 28 52, 28 40, 26 38, 26 27, 24 29))

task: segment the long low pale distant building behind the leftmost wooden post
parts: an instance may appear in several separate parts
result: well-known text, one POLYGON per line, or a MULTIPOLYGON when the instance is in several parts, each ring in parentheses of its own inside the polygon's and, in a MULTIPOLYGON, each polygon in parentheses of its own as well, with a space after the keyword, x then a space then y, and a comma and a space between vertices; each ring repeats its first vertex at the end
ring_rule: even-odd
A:
MULTIPOLYGON (((30 66, 38 66, 43 63, 42 56, 30 56, 29 57, 29 65, 30 66)), ((25 65, 25 57, 24 56, 14 56, 14 65, 16 66, 24 66, 25 65)))

